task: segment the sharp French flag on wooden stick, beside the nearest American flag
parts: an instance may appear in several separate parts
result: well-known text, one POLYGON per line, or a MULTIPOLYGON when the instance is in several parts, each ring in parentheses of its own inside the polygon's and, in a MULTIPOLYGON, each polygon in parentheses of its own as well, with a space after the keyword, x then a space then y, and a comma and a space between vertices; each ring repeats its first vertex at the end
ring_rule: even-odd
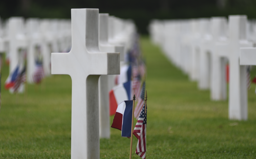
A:
POLYGON ((131 137, 131 127, 133 118, 133 100, 121 102, 114 116, 111 128, 116 128, 122 131, 122 137, 131 137))

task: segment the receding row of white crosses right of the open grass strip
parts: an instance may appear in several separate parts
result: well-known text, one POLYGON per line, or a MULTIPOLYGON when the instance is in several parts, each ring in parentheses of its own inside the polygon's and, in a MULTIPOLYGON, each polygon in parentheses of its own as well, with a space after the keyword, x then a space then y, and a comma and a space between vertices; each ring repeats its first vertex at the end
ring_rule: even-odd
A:
POLYGON ((198 81, 199 89, 210 88, 212 100, 226 99, 228 61, 229 118, 247 120, 246 67, 239 65, 240 48, 253 47, 247 38, 247 27, 247 16, 230 15, 228 20, 225 17, 154 20, 150 32, 152 41, 161 46, 167 57, 191 80, 198 81))

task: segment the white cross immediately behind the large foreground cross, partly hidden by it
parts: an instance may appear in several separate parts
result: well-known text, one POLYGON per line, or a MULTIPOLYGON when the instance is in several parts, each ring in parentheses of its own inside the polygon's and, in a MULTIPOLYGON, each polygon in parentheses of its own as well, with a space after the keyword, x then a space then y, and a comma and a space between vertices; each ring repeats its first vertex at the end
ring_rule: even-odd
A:
MULTIPOLYGON (((124 46, 108 43, 109 14, 99 14, 99 48, 101 52, 119 52, 123 61, 124 46)), ((110 138, 109 91, 113 88, 114 75, 101 75, 99 79, 100 137, 110 138)))

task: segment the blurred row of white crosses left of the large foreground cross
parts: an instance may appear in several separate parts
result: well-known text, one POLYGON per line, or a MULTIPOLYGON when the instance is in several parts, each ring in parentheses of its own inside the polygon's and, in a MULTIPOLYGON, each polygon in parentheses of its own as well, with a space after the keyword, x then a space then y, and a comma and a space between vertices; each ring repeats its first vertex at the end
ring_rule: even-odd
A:
MULTIPOLYGON (((71 48, 70 20, 11 17, 1 25, 0 51, 6 52, 11 73, 21 60, 20 50, 27 51, 27 81, 33 83, 35 52, 42 55, 44 74, 51 74, 51 52, 65 52, 71 48)), ((21 87, 20 92, 23 92, 21 87)))

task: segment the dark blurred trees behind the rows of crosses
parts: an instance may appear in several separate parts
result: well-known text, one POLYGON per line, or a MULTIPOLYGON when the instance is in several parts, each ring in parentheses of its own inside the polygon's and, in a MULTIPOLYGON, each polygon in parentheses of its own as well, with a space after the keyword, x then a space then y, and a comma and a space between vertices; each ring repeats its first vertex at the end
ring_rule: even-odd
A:
POLYGON ((0 16, 70 18, 71 8, 99 8, 120 18, 131 18, 147 34, 151 19, 199 18, 246 14, 256 18, 256 0, 1 0, 0 16))

